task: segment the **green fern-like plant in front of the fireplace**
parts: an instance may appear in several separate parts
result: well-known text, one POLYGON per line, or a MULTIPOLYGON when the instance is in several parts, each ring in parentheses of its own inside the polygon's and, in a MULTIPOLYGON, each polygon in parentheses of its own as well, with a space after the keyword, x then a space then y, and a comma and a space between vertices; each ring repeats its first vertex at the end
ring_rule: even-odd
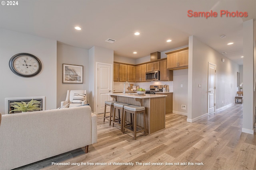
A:
MULTIPOLYGON (((30 102, 28 102, 28 104, 26 104, 25 102, 14 102, 14 104, 12 107, 16 108, 12 111, 22 111, 22 112, 26 112, 26 111, 35 111, 35 110, 41 110, 40 106, 38 104, 40 104, 40 102, 38 102, 37 100, 31 100, 30 102)), ((9 111, 9 114, 12 112, 9 111)))

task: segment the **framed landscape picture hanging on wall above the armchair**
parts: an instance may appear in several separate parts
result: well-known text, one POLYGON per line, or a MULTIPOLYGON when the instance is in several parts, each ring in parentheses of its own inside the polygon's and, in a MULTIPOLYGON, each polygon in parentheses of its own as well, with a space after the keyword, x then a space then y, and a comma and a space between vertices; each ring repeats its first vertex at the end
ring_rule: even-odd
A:
POLYGON ((83 66, 62 64, 62 83, 83 83, 83 66))

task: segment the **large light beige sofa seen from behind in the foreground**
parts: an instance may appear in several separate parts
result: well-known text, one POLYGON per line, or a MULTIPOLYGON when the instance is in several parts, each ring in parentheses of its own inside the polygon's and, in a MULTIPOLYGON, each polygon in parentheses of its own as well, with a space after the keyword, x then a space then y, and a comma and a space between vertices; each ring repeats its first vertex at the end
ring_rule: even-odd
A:
POLYGON ((96 142, 97 116, 90 106, 5 114, 0 123, 0 170, 96 142))

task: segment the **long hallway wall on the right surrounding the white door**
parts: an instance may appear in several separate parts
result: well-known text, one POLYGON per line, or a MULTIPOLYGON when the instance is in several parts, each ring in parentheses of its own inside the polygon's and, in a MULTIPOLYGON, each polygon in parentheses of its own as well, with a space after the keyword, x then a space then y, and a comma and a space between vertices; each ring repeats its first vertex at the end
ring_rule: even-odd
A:
POLYGON ((188 121, 208 113, 208 62, 216 64, 216 109, 234 102, 239 65, 196 37, 189 37, 188 121), (224 58, 225 62, 221 59, 224 58), (198 84, 202 87, 199 88, 198 84), (223 101, 223 104, 222 104, 223 101))

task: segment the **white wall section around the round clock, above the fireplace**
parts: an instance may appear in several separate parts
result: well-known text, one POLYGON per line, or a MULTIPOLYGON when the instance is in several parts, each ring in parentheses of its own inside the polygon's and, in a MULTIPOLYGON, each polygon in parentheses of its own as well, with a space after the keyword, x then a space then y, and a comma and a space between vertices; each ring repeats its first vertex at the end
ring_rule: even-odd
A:
POLYGON ((0 29, 0 113, 4 113, 4 98, 46 96, 46 109, 56 108, 57 42, 24 33, 0 29), (10 58, 17 53, 31 53, 42 62, 41 72, 24 78, 9 68, 10 58))

